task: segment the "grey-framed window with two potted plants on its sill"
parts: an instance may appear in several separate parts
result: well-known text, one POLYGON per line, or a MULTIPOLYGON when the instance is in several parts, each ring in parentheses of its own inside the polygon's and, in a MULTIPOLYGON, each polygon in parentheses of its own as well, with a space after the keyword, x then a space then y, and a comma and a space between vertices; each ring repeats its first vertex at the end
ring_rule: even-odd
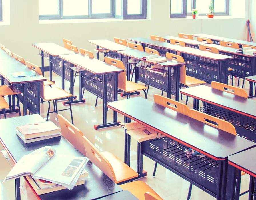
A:
MULTIPOLYGON (((211 0, 170 0, 171 18, 185 18, 191 16, 191 10, 197 9, 199 15, 209 13, 211 0)), ((229 0, 213 0, 214 15, 229 15, 229 0)))

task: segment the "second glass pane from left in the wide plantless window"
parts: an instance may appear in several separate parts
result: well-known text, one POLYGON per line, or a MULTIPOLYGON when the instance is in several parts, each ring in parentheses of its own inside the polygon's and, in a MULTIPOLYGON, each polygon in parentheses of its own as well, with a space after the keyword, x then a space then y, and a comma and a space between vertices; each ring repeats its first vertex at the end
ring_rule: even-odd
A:
POLYGON ((63 16, 88 15, 88 0, 63 0, 63 16))

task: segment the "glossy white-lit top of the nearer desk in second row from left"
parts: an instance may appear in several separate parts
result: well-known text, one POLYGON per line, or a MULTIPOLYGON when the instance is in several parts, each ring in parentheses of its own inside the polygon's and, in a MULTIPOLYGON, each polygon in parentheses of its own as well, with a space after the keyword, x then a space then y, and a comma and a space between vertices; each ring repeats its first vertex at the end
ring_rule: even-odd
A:
POLYGON ((60 58, 76 66, 79 66, 93 74, 120 73, 124 71, 122 69, 119 69, 118 67, 109 65, 95 58, 90 58, 89 56, 82 55, 80 53, 61 55, 60 58))

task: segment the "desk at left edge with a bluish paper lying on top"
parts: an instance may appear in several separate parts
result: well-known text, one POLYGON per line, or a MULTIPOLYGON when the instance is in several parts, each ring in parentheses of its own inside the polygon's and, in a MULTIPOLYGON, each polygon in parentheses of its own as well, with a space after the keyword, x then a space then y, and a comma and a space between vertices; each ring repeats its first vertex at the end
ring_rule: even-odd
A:
MULTIPOLYGON (((29 72, 33 70, 14 58, 0 60, 1 85, 11 84, 13 85, 13 91, 22 92, 18 94, 18 98, 23 104, 23 115, 27 115, 27 109, 33 114, 40 113, 40 83, 46 81, 46 79, 38 73, 29 77, 11 77, 12 73, 20 71, 29 72)), ((15 110, 15 97, 13 97, 12 110, 15 110)))

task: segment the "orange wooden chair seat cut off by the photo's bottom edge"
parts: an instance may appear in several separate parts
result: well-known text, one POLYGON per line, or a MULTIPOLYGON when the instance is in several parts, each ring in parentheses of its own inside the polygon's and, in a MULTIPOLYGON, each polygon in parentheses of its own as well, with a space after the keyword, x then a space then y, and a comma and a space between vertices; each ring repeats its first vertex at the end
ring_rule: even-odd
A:
POLYGON ((130 183, 119 185, 119 187, 121 187, 123 190, 128 190, 140 200, 145 200, 144 195, 146 192, 150 192, 151 194, 157 196, 159 199, 162 199, 151 187, 149 187, 143 181, 133 181, 130 183))

